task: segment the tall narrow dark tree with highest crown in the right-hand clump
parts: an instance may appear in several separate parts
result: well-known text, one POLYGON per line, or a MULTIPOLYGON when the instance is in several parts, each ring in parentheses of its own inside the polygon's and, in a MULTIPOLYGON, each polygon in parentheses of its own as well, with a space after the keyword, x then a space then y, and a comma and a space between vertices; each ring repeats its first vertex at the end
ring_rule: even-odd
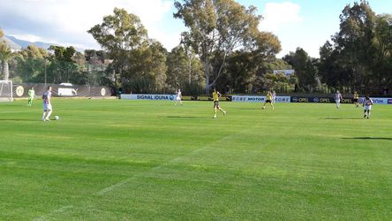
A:
POLYGON ((340 15, 340 31, 332 38, 339 55, 336 58, 340 69, 351 79, 352 82, 348 83, 356 88, 368 84, 368 73, 372 72, 375 18, 375 13, 366 1, 361 0, 352 7, 348 4, 340 15))

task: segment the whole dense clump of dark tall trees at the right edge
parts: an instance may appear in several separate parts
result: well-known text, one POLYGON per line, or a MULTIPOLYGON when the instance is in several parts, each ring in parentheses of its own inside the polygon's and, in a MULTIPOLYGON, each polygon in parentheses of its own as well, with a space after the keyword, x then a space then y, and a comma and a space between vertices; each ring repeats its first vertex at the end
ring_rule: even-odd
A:
POLYGON ((366 1, 347 4, 340 31, 320 48, 322 80, 338 88, 367 90, 392 83, 392 19, 376 15, 366 1))

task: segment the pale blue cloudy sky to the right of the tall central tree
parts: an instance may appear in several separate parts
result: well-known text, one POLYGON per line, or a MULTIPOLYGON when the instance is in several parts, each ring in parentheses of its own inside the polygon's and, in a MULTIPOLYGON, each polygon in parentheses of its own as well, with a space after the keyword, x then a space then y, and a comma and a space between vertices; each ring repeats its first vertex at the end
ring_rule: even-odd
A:
MULTIPOLYGON (((274 18, 261 21, 261 29, 272 31, 282 42, 283 57, 297 47, 303 48, 312 57, 319 57, 319 49, 330 36, 339 31, 339 15, 347 4, 358 1, 349 0, 237 0, 239 4, 254 5, 260 14, 274 18), (290 4, 288 4, 290 3, 290 4), (271 6, 275 4, 275 7, 271 6), (281 9, 281 10, 279 10, 281 9), (281 14, 279 11, 284 11, 281 14), (279 14, 279 15, 278 15, 279 14), (287 17, 287 19, 284 19, 287 17), (263 27, 263 22, 267 24, 263 27)), ((392 1, 368 1, 376 14, 392 14, 392 1)))

